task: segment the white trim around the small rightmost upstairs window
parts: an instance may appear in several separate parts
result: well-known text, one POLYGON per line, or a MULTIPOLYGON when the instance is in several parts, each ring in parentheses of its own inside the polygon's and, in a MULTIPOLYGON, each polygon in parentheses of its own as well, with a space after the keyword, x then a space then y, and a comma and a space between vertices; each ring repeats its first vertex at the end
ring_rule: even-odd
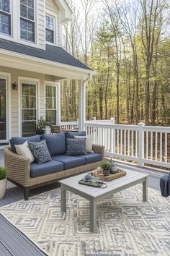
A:
POLYGON ((45 11, 45 43, 51 46, 58 45, 58 14, 56 14, 55 12, 51 12, 48 9, 46 9, 45 11), (54 19, 54 43, 46 41, 46 15, 54 19))

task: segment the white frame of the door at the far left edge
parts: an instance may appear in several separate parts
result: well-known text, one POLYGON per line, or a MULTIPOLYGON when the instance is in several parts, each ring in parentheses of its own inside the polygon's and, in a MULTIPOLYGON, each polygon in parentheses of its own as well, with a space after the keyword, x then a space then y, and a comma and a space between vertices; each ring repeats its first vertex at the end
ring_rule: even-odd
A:
POLYGON ((11 74, 0 71, 0 78, 6 80, 6 140, 0 140, 1 145, 12 137, 11 74))

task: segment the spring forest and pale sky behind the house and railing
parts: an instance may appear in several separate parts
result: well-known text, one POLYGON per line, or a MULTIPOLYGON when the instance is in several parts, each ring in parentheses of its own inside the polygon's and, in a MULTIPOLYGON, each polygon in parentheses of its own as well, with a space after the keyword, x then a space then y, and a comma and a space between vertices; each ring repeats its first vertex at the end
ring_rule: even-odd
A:
MULTIPOLYGON (((86 85, 86 120, 170 126, 169 0, 68 0, 66 51, 97 72, 86 85)), ((61 119, 79 118, 76 80, 61 85, 61 119)))

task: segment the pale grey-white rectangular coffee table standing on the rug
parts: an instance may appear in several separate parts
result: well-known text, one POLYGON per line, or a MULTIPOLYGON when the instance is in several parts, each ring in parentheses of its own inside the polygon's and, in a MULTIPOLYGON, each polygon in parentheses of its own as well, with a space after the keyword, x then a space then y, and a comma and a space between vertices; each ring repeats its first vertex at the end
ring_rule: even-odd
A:
POLYGON ((138 183, 143 183, 143 201, 148 200, 148 175, 138 171, 127 171, 126 176, 122 176, 107 183, 107 188, 90 187, 79 184, 84 174, 62 179, 61 183, 61 211, 66 212, 66 190, 76 195, 86 198, 90 202, 90 231, 97 232, 97 202, 101 199, 114 195, 128 187, 133 187, 138 183))

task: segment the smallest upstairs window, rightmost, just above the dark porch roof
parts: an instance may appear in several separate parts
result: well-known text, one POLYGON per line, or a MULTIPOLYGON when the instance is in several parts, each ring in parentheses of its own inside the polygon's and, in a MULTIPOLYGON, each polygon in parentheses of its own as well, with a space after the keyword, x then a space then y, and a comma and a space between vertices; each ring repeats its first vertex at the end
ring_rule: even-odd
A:
POLYGON ((46 15, 45 37, 47 42, 55 43, 54 30, 55 30, 55 18, 49 15, 46 15))

